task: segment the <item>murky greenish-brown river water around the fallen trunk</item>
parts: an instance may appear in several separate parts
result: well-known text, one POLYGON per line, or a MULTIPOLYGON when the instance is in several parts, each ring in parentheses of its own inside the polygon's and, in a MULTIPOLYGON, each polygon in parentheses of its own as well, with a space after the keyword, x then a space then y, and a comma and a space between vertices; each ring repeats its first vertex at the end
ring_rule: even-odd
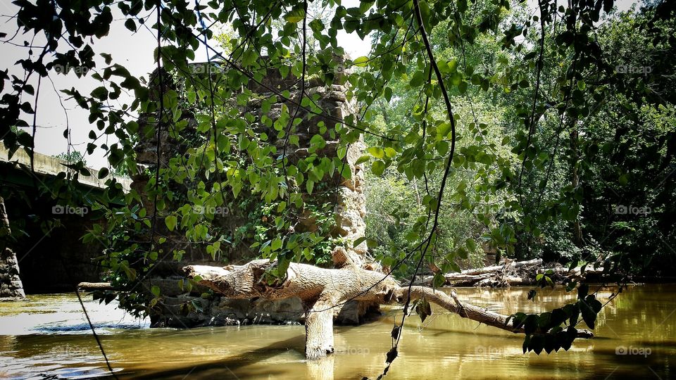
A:
MULTIPOLYGON (((461 299, 510 314, 551 309, 560 289, 458 289, 461 299)), ((601 291, 607 298, 611 290, 601 291)), ((337 352, 303 358, 302 326, 149 329, 114 305, 88 301, 96 331, 120 379, 375 379, 389 350, 394 315, 337 327, 337 352)), ((522 337, 434 309, 407 327, 386 379, 669 379, 676 377, 676 285, 634 286, 601 311, 596 338, 568 351, 521 351, 522 337)), ((0 303, 0 378, 105 376, 103 358, 74 294, 0 303), (50 377, 51 376, 51 377, 50 377)))

